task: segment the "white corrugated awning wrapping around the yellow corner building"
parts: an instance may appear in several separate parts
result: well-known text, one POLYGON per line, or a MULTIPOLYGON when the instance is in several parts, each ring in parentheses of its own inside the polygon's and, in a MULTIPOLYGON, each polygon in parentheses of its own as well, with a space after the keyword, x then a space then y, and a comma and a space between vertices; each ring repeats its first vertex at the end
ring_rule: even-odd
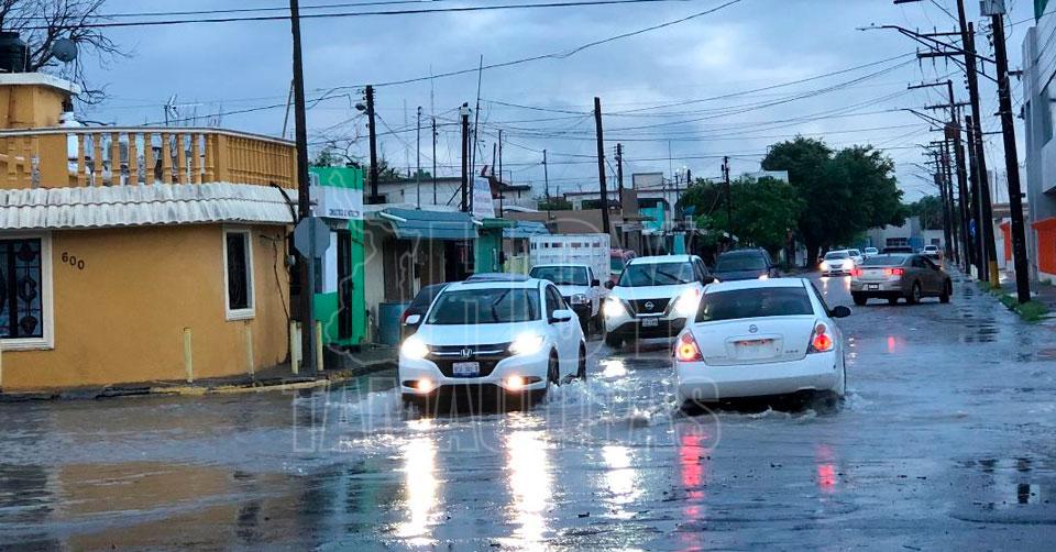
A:
POLYGON ((245 184, 0 190, 0 230, 249 222, 293 224, 275 187, 245 184))

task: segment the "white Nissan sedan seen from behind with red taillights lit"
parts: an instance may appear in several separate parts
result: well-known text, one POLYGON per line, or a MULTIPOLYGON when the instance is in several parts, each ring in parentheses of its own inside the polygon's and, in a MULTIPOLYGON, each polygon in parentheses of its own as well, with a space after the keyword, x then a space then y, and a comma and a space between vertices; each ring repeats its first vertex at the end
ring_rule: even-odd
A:
POLYGON ((708 286, 674 346, 679 404, 822 391, 843 397, 844 345, 835 319, 807 279, 708 286))

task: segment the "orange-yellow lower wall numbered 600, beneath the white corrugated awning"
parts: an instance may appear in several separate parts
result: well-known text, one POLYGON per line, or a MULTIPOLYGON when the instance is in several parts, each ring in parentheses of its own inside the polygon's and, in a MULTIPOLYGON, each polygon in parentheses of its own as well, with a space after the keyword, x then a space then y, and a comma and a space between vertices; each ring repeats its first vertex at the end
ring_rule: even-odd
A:
POLYGON ((4 352, 3 390, 184 379, 184 328, 193 331, 195 378, 246 373, 248 328, 256 369, 282 363, 283 234, 253 228, 256 314, 228 321, 221 225, 53 232, 55 346, 4 352), (84 269, 63 264, 63 253, 84 269))

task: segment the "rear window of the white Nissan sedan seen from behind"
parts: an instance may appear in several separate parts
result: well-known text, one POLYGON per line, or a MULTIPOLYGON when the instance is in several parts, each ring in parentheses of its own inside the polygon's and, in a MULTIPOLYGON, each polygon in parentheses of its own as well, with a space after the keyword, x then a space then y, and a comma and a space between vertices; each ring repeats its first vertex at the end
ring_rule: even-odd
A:
POLYGON ((802 287, 735 289, 704 294, 697 322, 740 318, 813 314, 814 307, 802 287))

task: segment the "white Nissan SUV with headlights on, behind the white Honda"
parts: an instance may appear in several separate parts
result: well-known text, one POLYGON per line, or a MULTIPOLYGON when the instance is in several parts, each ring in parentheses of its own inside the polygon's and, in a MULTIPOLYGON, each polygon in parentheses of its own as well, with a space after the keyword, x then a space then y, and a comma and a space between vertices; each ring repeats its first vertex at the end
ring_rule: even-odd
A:
POLYGON ((605 299, 605 343, 673 338, 696 312, 704 286, 715 280, 696 255, 638 257, 624 267, 605 299))

